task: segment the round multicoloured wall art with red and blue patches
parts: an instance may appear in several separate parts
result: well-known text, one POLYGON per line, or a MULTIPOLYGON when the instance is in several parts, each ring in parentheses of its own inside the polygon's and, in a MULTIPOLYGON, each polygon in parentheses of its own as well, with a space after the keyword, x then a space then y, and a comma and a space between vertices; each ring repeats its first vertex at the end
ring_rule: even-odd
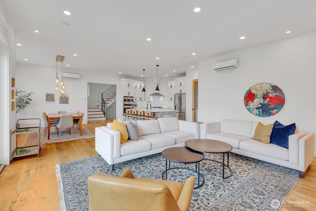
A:
POLYGON ((284 105, 283 91, 275 84, 260 83, 251 86, 243 98, 246 109, 258 117, 270 117, 284 105))

